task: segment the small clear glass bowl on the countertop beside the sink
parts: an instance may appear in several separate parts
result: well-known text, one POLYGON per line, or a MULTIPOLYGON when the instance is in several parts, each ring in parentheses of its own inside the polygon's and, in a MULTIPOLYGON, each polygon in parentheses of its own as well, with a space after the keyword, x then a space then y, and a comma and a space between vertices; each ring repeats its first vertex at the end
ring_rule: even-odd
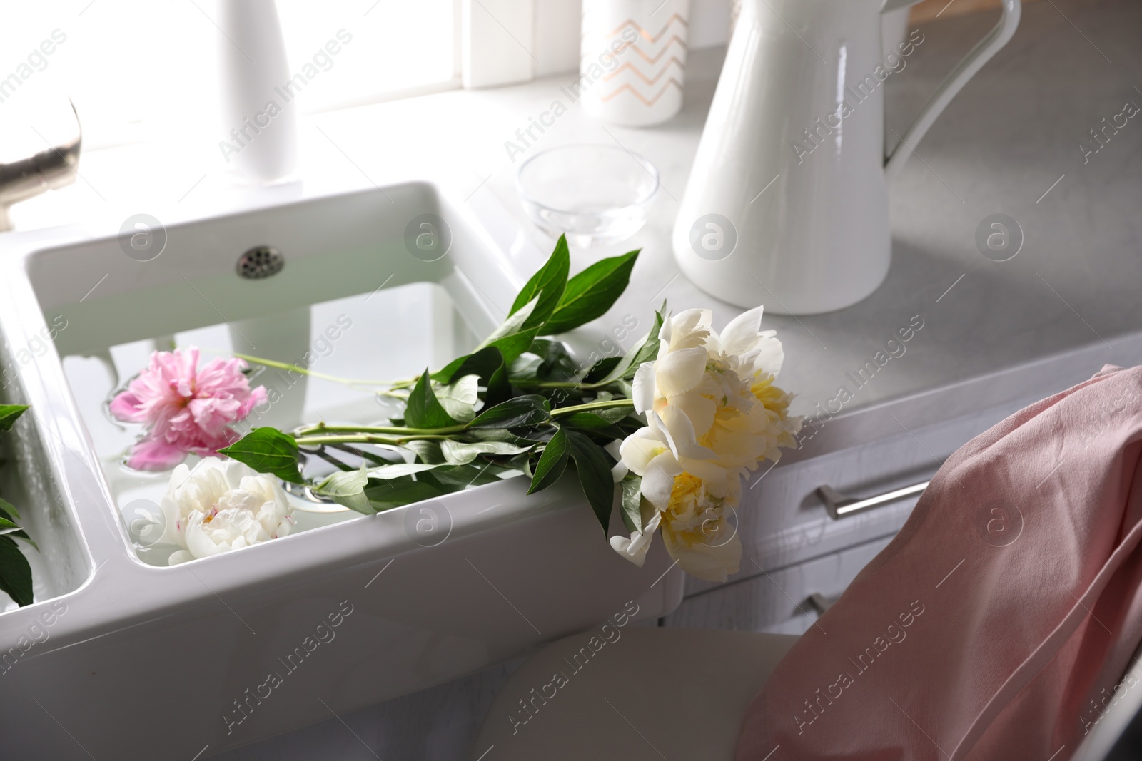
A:
POLYGON ((540 229, 579 248, 624 241, 646 224, 658 169, 619 146, 566 145, 537 153, 515 176, 540 229))

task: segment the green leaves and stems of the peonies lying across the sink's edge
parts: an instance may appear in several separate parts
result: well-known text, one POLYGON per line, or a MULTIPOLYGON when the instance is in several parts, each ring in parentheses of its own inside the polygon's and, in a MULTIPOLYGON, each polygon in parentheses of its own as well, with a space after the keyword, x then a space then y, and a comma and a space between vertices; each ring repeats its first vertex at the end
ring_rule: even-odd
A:
MULTIPOLYGON (((222 452, 291 483, 306 483, 298 463, 311 447, 321 447, 322 460, 351 454, 360 467, 345 463, 320 483, 309 483, 317 494, 367 515, 521 472, 530 478, 529 493, 534 493, 570 467, 605 532, 616 485, 614 463, 603 447, 643 421, 629 404, 590 405, 629 397, 638 364, 658 353, 662 315, 626 356, 595 363, 585 378, 569 347, 552 337, 611 309, 637 258, 638 251, 630 251, 602 259, 569 280, 571 257, 561 237, 504 322, 476 349, 394 387, 401 395, 408 392, 403 418, 385 426, 309 427, 299 429, 297 438, 258 428, 222 452), (389 454, 401 452, 411 462, 386 463, 356 448, 373 445, 387 447, 389 454)), ((642 525, 636 495, 637 480, 628 477, 621 500, 628 528, 642 525)))

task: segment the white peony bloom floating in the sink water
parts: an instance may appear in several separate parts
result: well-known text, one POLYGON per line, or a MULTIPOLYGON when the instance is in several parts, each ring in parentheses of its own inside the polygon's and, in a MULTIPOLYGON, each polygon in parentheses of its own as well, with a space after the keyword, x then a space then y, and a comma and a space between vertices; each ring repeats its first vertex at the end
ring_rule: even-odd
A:
POLYGON ((179 464, 160 502, 161 541, 184 548, 170 565, 206 558, 289 534, 293 511, 273 476, 236 460, 206 458, 179 464))

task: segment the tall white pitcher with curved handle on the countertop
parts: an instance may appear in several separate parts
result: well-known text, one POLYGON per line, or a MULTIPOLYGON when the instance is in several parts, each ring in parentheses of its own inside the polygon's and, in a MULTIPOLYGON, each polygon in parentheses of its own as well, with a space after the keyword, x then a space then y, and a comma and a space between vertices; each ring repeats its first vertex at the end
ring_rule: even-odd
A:
POLYGON ((674 227, 682 272, 740 307, 851 306, 888 273, 885 179, 1015 33, 1020 0, 887 144, 884 82, 924 44, 885 55, 880 14, 918 0, 743 0, 674 227))

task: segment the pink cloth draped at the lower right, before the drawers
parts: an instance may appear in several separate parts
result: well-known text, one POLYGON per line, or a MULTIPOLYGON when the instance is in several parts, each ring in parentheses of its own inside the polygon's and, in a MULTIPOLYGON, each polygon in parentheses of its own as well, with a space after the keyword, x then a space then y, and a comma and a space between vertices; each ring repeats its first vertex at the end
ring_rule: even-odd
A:
POLYGON ((1109 365, 960 447, 750 703, 738 761, 1070 758, 1142 689, 1140 456, 1142 367, 1109 365))

